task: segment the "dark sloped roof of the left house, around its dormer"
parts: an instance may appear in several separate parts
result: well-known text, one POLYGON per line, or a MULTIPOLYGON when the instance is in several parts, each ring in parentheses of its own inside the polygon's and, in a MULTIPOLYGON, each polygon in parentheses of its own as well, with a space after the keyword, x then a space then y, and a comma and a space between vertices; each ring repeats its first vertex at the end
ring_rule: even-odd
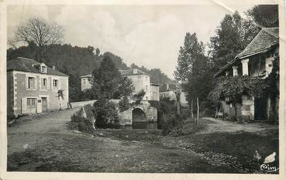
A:
MULTIPOLYGON (((17 57, 15 59, 11 59, 7 61, 7 71, 18 70, 18 71, 23 71, 23 72, 41 73, 36 67, 33 66, 33 64, 37 64, 37 63, 39 64, 39 62, 34 61, 34 59, 17 57)), ((68 77, 67 74, 63 74, 62 72, 59 72, 58 70, 53 70, 52 68, 48 66, 47 66, 47 73, 45 74, 68 77)))

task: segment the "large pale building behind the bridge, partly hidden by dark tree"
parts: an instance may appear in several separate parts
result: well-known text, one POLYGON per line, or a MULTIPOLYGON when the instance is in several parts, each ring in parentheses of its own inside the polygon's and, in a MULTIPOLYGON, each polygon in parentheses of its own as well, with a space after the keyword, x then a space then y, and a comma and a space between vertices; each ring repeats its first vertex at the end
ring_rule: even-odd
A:
MULTIPOLYGON (((138 69, 132 70, 119 70, 123 77, 128 77, 132 80, 134 86, 134 94, 144 90, 146 92, 143 100, 155 100, 159 101, 159 84, 150 83, 150 74, 138 69)), ((92 78, 92 74, 81 76, 81 90, 91 88, 89 79, 92 78)))

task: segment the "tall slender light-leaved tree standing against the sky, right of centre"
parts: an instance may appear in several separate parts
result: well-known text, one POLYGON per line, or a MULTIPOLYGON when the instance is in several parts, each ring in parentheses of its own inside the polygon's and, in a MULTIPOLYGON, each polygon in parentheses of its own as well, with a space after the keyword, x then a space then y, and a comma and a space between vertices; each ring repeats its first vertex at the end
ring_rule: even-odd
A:
POLYGON ((203 42, 199 42, 196 38, 196 33, 186 33, 184 46, 181 46, 178 52, 177 66, 174 72, 178 81, 187 83, 190 80, 194 61, 204 53, 204 48, 203 42))

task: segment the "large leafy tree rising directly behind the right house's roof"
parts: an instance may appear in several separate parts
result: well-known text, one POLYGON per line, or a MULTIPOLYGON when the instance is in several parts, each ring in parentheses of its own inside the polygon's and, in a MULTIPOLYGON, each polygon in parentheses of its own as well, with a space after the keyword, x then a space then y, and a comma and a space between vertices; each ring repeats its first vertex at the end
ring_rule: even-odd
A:
POLYGON ((226 14, 221 25, 216 29, 216 35, 210 38, 209 56, 218 71, 229 61, 232 61, 259 32, 251 19, 242 19, 236 11, 226 14))

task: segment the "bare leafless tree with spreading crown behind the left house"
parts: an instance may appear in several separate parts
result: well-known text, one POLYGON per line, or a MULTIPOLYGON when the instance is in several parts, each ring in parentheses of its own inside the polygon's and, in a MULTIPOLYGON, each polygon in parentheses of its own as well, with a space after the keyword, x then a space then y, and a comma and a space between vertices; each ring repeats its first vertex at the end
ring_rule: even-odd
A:
POLYGON ((57 23, 48 23, 42 18, 32 18, 17 28, 15 37, 10 40, 10 43, 35 43, 37 45, 36 59, 43 61, 44 47, 61 43, 62 39, 63 29, 57 23))

